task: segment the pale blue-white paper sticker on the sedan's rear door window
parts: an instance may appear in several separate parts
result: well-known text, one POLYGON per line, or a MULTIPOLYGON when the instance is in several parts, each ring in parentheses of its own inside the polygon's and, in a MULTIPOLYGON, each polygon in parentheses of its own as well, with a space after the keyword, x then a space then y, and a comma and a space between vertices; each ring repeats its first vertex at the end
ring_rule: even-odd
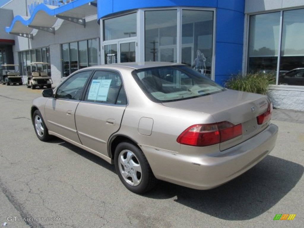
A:
POLYGON ((106 101, 112 79, 93 79, 88 100, 106 101))

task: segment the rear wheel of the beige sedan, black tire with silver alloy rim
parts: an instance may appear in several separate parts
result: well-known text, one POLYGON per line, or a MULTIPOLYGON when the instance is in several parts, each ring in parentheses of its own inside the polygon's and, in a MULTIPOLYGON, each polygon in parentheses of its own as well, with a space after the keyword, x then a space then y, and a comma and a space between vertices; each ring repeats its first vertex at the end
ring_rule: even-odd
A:
POLYGON ((115 149, 114 160, 119 179, 131 192, 143 194, 156 185, 157 179, 147 158, 134 144, 119 143, 115 149))

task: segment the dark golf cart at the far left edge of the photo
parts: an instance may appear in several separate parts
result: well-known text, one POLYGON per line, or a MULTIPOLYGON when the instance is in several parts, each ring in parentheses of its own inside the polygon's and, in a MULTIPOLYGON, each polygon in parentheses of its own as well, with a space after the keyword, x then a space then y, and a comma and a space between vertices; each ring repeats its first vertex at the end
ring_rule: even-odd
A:
POLYGON ((23 78, 20 75, 19 71, 19 65, 14 64, 3 64, 1 65, 1 80, 3 85, 16 85, 17 83, 19 85, 22 85, 23 78))

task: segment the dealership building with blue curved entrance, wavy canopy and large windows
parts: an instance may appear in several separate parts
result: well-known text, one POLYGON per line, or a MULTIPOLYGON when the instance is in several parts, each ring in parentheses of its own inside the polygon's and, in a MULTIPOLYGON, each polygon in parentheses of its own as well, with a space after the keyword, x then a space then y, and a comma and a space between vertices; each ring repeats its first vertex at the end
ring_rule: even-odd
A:
POLYGON ((88 66, 199 58, 221 85, 273 74, 274 106, 304 111, 304 0, 0 0, 0 30, 0 64, 25 79, 31 62, 57 85, 88 66))

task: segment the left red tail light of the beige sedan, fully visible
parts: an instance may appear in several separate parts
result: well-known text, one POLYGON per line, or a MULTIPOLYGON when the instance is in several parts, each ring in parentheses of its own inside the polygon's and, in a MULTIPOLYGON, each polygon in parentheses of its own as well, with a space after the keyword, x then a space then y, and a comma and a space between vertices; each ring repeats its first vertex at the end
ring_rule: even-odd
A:
POLYGON ((229 122, 197 124, 188 127, 177 138, 177 142, 197 147, 211 146, 233 139, 242 134, 242 124, 229 122))

